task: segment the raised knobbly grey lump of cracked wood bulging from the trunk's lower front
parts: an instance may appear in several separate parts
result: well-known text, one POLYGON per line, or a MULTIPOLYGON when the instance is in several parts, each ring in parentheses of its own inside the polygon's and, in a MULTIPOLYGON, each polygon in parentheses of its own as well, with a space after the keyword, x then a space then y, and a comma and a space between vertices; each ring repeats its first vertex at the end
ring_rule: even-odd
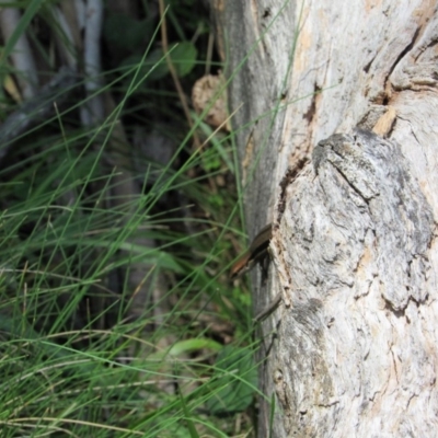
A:
POLYGON ((334 135, 284 204, 272 243, 285 297, 269 367, 277 436, 431 436, 434 219, 400 147, 334 135))

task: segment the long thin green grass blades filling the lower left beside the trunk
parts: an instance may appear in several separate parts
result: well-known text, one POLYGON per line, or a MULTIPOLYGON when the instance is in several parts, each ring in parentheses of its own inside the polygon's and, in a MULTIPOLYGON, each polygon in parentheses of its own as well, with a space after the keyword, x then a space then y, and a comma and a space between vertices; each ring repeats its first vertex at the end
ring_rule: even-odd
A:
POLYGON ((123 170, 105 165, 106 142, 81 148, 85 139, 44 138, 32 145, 32 158, 0 175, 8 204, 0 245, 2 437, 232 436, 221 416, 245 411, 256 391, 254 345, 242 336, 250 300, 226 275, 233 251, 218 237, 232 232, 222 216, 230 206, 209 205, 212 173, 186 176, 189 166, 222 162, 220 153, 196 152, 130 199, 115 199, 123 170), (159 211, 175 191, 208 206, 210 219, 184 217, 184 206, 159 211), (140 269, 137 285, 128 281, 132 266, 140 269), (125 283, 114 283, 117 274, 125 283), (139 306, 141 285, 159 290, 158 300, 146 293, 139 306), (237 360, 227 355, 231 362, 216 365, 221 330, 241 338, 237 360), (232 410, 215 407, 233 397, 233 382, 232 410))

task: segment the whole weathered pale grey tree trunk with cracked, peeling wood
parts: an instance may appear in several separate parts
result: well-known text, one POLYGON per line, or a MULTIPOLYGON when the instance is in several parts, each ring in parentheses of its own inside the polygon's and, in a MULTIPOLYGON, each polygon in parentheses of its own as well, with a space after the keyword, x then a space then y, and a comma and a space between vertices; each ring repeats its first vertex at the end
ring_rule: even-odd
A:
POLYGON ((258 435, 435 436, 437 2, 210 1, 250 234, 274 223, 255 312, 283 297, 258 435))

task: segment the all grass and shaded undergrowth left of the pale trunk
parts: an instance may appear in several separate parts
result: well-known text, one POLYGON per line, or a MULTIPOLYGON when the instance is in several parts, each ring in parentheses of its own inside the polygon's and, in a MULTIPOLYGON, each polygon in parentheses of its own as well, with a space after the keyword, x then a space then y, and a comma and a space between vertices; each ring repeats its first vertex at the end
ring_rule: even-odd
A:
POLYGON ((21 9, 0 70, 1 436, 250 436, 232 136, 184 112, 194 81, 223 68, 206 11, 108 2, 93 65, 72 4, 8 3, 21 9), (11 57, 21 38, 35 71, 11 57))

